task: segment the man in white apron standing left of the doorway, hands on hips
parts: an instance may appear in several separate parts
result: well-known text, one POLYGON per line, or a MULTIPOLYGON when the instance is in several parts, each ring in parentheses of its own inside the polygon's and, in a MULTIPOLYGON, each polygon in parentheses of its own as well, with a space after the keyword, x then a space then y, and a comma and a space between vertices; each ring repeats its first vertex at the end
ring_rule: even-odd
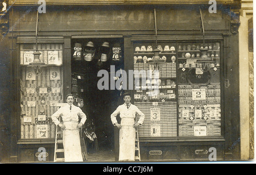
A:
POLYGON ((79 130, 86 121, 86 115, 80 107, 73 105, 72 94, 68 94, 66 100, 67 105, 60 107, 52 115, 52 121, 63 130, 65 162, 79 162, 82 161, 79 130), (59 116, 62 117, 63 124, 58 120, 59 116), (81 118, 80 123, 78 123, 79 117, 81 118))

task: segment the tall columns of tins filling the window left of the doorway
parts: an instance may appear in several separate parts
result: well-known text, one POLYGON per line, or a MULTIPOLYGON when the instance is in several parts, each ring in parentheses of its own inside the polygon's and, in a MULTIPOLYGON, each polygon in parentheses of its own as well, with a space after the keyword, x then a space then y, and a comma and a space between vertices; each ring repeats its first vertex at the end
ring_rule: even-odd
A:
POLYGON ((48 64, 48 51, 57 51, 59 62, 63 62, 63 44, 38 44, 38 51, 41 53, 39 59, 47 66, 44 67, 42 74, 35 76, 34 80, 28 80, 27 70, 31 69, 24 65, 24 52, 35 51, 35 44, 33 49, 23 49, 23 44, 20 45, 20 101, 21 101, 21 126, 20 138, 21 139, 36 139, 38 138, 38 126, 46 126, 45 134, 42 138, 55 138, 56 126, 51 120, 51 115, 59 109, 56 103, 63 102, 63 71, 60 66, 48 64), (58 80, 52 80, 51 70, 57 68, 59 70, 58 80), (32 89, 32 92, 28 91, 32 89), (59 88, 60 91, 52 91, 52 88, 59 88), (44 89, 44 90, 43 90, 44 89), (33 105, 28 106, 28 103, 33 105), (46 116, 45 119, 40 120, 38 116, 46 116), (24 120, 24 117, 31 118, 24 120))

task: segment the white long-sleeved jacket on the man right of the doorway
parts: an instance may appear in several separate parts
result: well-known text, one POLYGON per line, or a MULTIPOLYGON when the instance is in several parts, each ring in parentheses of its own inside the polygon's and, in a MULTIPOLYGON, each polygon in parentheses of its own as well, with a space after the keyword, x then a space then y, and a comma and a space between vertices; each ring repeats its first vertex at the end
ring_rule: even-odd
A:
MULTIPOLYGON (((117 123, 117 115, 120 114, 120 118, 132 118, 135 119, 136 114, 139 115, 138 123, 142 124, 144 121, 145 115, 138 109, 137 106, 130 103, 130 107, 127 109, 126 104, 120 105, 117 109, 111 114, 110 118, 112 123, 117 123)), ((122 121, 121 121, 122 122, 122 121)), ((122 123, 121 123, 122 124, 122 123)))

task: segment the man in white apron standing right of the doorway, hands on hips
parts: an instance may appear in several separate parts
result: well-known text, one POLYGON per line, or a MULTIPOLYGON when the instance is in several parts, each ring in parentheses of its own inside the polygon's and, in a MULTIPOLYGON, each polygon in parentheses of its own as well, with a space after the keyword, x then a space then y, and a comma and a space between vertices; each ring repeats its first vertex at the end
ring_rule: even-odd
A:
POLYGON ((119 161, 134 161, 135 156, 135 128, 141 126, 144 121, 144 114, 130 103, 131 95, 123 94, 125 103, 117 107, 111 114, 114 126, 119 128, 119 161), (117 115, 120 114, 121 124, 117 123, 117 115), (139 120, 135 123, 135 116, 139 115, 139 120))

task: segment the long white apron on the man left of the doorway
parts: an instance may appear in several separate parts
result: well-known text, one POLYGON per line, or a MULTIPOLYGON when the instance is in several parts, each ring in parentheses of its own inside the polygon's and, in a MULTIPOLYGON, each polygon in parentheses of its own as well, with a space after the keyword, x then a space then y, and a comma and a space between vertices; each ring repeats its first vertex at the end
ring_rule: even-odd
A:
POLYGON ((77 122, 64 122, 63 146, 65 162, 79 162, 82 160, 79 130, 77 122))

